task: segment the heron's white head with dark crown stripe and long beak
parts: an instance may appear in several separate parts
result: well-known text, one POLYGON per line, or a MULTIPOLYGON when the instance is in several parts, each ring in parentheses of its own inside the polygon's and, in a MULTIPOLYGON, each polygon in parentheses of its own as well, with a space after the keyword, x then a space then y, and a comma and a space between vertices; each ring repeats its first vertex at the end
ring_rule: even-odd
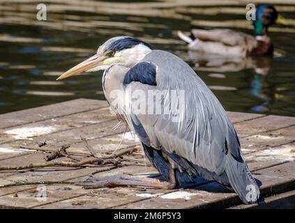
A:
POLYGON ((129 36, 110 38, 98 48, 94 56, 71 68, 57 80, 79 75, 82 72, 106 70, 113 65, 131 68, 151 52, 151 46, 142 40, 129 36))

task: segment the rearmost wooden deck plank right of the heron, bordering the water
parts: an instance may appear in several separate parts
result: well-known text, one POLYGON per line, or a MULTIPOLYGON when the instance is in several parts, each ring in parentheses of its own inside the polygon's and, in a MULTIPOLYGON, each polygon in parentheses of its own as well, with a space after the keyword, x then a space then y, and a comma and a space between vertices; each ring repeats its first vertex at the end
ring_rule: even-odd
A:
POLYGON ((292 125, 295 125, 295 117, 263 116, 262 118, 236 123, 234 127, 239 137, 249 137, 250 135, 287 128, 292 125))

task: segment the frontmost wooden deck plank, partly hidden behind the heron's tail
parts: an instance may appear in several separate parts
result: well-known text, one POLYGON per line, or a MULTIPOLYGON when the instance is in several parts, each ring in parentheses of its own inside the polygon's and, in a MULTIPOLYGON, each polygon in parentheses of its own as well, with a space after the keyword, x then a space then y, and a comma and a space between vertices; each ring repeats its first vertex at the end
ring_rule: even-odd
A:
MULTIPOLYGON (((262 181, 260 190, 263 196, 275 194, 294 188, 295 186, 295 162, 281 164, 255 171, 255 178, 262 181)), ((144 201, 130 203, 116 208, 226 208, 241 203, 239 197, 229 192, 218 183, 207 183, 182 190, 178 194, 172 192, 165 197, 158 196, 144 201)))

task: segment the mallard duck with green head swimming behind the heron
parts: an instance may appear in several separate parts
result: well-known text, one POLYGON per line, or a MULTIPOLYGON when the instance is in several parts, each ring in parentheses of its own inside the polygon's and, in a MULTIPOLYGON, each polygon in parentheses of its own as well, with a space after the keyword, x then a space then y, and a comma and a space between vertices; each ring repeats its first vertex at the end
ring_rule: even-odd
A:
MULTIPOLYGON (((181 40, 188 43, 189 49, 204 54, 267 56, 273 54, 273 43, 268 36, 268 27, 275 24, 277 19, 278 13, 273 6, 262 5, 257 8, 256 20, 253 21, 255 36, 230 29, 192 29, 190 36, 181 31, 178 35, 181 40)), ((284 20, 280 16, 280 23, 284 20)))

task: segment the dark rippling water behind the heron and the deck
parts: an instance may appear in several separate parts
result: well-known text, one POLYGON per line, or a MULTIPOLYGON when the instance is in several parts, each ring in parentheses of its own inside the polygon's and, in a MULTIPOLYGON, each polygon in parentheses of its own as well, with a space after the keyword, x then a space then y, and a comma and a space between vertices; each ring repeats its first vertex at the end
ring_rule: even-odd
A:
MULTIPOLYGON (((194 10, 218 6, 165 6, 163 3, 165 7, 146 5, 137 9, 132 4, 124 6, 124 3, 118 7, 116 3, 100 6, 96 1, 46 2, 47 21, 39 22, 36 20, 36 3, 1 1, 0 113, 75 98, 104 99, 102 72, 72 77, 63 82, 55 82, 55 79, 94 54, 100 44, 113 36, 143 38, 154 48, 173 52, 194 67, 196 60, 202 66, 208 59, 196 59, 197 56, 188 54, 186 45, 176 36, 177 30, 213 28, 193 25, 193 21, 199 20, 245 20, 243 13, 230 13, 230 10, 215 15, 194 13, 194 10), (93 6, 92 2, 96 5, 93 6)), ((223 7, 245 8, 243 5, 223 7)), ((294 21, 295 5, 292 7, 290 11, 288 6, 285 7, 282 15, 294 21)), ((252 33, 250 29, 226 28, 252 33)), ((275 28, 278 29, 271 31, 270 35, 279 56, 252 59, 248 62, 250 66, 248 63, 245 66, 245 61, 232 63, 213 59, 222 66, 195 68, 225 109, 295 116, 295 26, 275 25, 275 28), (252 68, 252 63, 256 69, 252 68)))

